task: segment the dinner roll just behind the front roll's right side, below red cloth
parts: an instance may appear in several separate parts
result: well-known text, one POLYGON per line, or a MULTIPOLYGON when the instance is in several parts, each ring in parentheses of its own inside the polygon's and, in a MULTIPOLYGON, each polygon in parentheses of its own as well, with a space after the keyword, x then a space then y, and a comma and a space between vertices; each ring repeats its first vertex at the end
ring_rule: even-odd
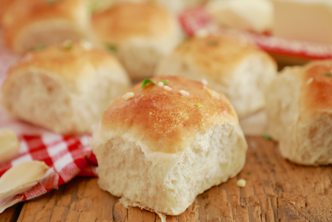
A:
POLYGON ((264 90, 276 73, 273 58, 254 45, 207 36, 182 43, 160 61, 155 75, 205 79, 227 96, 242 118, 265 106, 264 90))

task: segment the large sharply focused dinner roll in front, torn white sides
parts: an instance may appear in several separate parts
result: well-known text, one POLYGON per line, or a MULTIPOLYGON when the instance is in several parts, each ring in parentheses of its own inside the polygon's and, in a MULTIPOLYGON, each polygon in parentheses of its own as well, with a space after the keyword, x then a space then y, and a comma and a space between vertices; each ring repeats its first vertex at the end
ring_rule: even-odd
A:
POLYGON ((247 143, 232 105, 213 87, 151 80, 111 103, 93 130, 98 183, 125 207, 178 215, 242 169, 247 143))

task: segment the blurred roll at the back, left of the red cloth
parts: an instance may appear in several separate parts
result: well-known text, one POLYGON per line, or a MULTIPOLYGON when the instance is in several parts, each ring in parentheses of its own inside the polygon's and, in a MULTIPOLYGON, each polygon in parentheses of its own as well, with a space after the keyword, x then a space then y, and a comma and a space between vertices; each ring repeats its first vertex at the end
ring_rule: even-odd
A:
POLYGON ((180 40, 176 18, 154 3, 121 2, 93 14, 92 26, 133 80, 152 76, 180 40))

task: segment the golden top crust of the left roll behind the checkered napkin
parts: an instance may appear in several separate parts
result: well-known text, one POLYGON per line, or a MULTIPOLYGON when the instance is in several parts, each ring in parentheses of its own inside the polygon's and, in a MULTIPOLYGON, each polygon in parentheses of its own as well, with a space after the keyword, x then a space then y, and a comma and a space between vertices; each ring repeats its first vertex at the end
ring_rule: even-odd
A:
MULTIPOLYGON (((80 43, 70 44, 72 44, 70 49, 66 49, 65 44, 57 44, 28 52, 20 62, 9 68, 3 87, 6 87, 6 82, 16 78, 15 75, 20 72, 35 68, 47 70, 48 76, 60 81, 70 90, 80 92, 84 90, 84 84, 95 78, 94 71, 100 66, 107 64, 121 67, 118 60, 106 51, 86 50, 80 43)), ((118 78, 120 82, 129 81, 125 75, 113 78, 118 78)))

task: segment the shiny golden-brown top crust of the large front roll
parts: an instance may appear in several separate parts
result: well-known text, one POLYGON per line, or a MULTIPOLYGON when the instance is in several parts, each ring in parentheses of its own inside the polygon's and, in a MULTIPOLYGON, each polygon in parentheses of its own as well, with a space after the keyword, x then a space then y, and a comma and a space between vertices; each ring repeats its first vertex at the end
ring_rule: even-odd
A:
POLYGON ((130 90, 135 94, 133 98, 120 97, 105 111, 101 120, 103 131, 112 131, 118 136, 129 131, 152 152, 176 153, 183 151, 187 140, 197 132, 204 132, 223 121, 238 123, 227 98, 213 87, 177 76, 160 76, 152 80, 168 80, 166 85, 172 90, 152 83, 143 88, 141 83, 136 84, 130 90), (189 95, 181 95, 180 90, 189 95), (211 90, 215 96, 209 93, 211 90))

